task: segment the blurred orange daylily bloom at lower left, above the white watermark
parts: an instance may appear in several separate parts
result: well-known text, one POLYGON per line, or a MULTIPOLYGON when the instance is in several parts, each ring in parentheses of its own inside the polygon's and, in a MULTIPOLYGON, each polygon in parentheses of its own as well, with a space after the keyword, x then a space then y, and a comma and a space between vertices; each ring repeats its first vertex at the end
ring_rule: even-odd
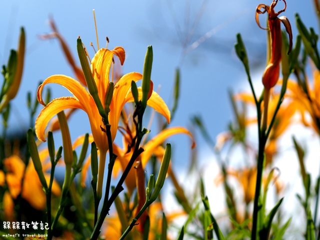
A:
MULTIPOLYGON (((50 162, 46 161, 48 157, 47 149, 39 151, 39 157, 42 163, 42 170, 44 172, 44 177, 49 183, 50 174, 45 172, 50 168, 50 162)), ((7 172, 4 174, 0 170, 0 184, 4 184, 4 179, 8 184, 9 195, 12 198, 16 198, 21 192, 21 179, 24 171, 24 162, 17 155, 12 155, 8 158, 5 158, 4 166, 7 169, 7 172)), ((52 193, 54 195, 59 195, 61 192, 59 185, 56 181, 53 181, 52 184, 52 193)), ((44 209, 45 207, 45 193, 42 189, 41 182, 37 176, 36 170, 34 169, 33 163, 30 160, 25 171, 24 175, 24 184, 22 188, 22 198, 27 200, 30 205, 35 209, 44 209)), ((10 203, 10 198, 7 196, 4 198, 7 203, 10 203)), ((9 206, 9 205, 7 205, 9 206)), ((11 212, 12 213, 12 212, 11 212)))

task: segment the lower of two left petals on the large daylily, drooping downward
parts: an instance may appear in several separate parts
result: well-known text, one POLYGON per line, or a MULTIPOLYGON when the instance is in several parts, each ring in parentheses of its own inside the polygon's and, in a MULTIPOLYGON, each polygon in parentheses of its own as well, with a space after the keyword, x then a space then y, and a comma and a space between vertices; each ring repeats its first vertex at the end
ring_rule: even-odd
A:
POLYGON ((51 118, 58 112, 67 108, 81 108, 84 110, 82 104, 80 104, 77 99, 67 96, 53 99, 40 111, 35 120, 35 134, 39 140, 45 141, 44 131, 51 118))

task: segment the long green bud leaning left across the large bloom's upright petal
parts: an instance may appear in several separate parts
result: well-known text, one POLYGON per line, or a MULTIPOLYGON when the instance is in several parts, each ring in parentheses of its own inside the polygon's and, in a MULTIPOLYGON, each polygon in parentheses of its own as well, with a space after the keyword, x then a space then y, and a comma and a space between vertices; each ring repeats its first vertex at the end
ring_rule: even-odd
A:
POLYGON ((83 71, 83 74, 84 74, 86 86, 87 86, 87 88, 89 90, 89 93, 93 97, 95 105, 98 108, 99 114, 103 118, 106 118, 106 115, 105 115, 105 112, 104 112, 104 108, 103 108, 102 103, 100 101, 100 98, 98 96, 98 88, 96 87, 96 84, 95 84, 94 78, 92 76, 92 72, 91 72, 88 60, 86 58, 85 51, 84 51, 83 46, 82 46, 82 41, 81 41, 81 39, 79 37, 76 40, 76 49, 77 49, 77 52, 78 52, 79 60, 80 60, 80 63, 81 63, 81 68, 82 68, 82 71, 83 71))

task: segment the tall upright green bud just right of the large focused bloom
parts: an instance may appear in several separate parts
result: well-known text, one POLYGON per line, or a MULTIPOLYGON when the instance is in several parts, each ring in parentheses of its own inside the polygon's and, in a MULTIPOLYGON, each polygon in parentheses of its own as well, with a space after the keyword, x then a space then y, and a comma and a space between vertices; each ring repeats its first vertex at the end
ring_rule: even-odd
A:
POLYGON ((144 57, 143 73, 142 73, 142 99, 141 107, 144 109, 146 107, 146 101, 148 99, 148 94, 150 90, 150 79, 151 79, 151 68, 153 60, 152 46, 149 45, 146 48, 146 53, 144 57))

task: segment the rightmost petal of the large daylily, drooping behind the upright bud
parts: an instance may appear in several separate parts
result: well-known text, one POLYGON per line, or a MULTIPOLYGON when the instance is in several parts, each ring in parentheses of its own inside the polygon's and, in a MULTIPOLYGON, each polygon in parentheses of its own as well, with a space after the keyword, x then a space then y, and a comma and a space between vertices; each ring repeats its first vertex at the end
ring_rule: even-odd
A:
MULTIPOLYGON (((141 87, 138 87, 139 99, 142 97, 141 87)), ((131 91, 127 93, 125 102, 134 101, 131 91)), ((163 115, 168 123, 170 123, 170 111, 163 99, 155 91, 152 92, 150 98, 147 100, 146 104, 152 107, 154 110, 163 115)))

